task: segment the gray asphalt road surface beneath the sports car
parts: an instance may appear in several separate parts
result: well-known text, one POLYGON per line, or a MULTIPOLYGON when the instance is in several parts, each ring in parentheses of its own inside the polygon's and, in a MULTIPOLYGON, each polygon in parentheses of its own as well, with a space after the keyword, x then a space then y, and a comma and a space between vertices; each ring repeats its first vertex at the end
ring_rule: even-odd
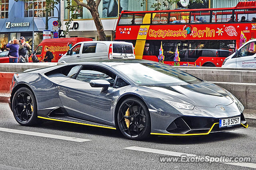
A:
MULTIPOLYGON (((249 124, 250 125, 250 124, 249 124)), ((197 137, 152 135, 146 141, 127 140, 111 129, 47 121, 22 127, 8 104, 0 103, 0 128, 89 139, 76 142, 0 131, 0 169, 253 169, 256 168, 256 128, 197 137), (127 147, 131 148, 124 149, 127 147), (141 147, 145 151, 139 151, 141 147), (155 149, 152 151, 152 149, 155 149), (168 152, 167 151, 172 151, 168 152), (153 153, 154 152, 154 153, 153 153), (160 152, 162 154, 160 154, 160 152), (219 162, 160 162, 179 153, 209 156, 249 156, 250 164, 219 162)), ((11 131, 10 130, 10 131, 11 131)))

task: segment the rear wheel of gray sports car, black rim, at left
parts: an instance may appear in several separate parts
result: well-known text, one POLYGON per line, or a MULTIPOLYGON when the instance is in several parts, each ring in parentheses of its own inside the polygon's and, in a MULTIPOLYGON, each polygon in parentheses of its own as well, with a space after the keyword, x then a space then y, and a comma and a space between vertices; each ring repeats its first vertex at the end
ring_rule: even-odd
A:
POLYGON ((12 99, 12 112, 20 125, 32 126, 39 123, 36 98, 28 88, 22 87, 15 92, 12 99))

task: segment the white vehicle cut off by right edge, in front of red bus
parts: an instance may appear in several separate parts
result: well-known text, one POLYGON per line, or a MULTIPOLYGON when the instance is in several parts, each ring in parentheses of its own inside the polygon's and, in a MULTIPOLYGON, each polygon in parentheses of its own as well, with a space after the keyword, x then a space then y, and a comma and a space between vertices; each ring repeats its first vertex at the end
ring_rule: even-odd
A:
POLYGON ((221 67, 256 68, 256 39, 242 45, 223 61, 221 67))

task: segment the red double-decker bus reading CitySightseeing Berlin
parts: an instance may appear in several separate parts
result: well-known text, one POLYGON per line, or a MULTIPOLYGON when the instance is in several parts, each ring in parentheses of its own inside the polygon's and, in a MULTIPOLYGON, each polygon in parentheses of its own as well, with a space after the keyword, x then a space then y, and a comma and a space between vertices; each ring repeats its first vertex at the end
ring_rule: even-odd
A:
MULTIPOLYGON (((256 38, 256 2, 232 8, 122 11, 116 41, 132 42, 136 59, 174 65, 178 47, 181 66, 221 66, 226 57, 256 38)), ((177 63, 176 63, 177 64, 177 63)))

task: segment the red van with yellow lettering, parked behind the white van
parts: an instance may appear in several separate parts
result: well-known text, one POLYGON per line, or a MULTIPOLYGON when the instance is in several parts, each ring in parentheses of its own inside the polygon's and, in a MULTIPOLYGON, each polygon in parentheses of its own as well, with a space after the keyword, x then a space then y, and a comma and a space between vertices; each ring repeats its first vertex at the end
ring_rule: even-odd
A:
MULTIPOLYGON (((62 55, 73 47, 73 45, 81 41, 92 41, 92 39, 79 37, 44 39, 35 49, 36 56, 40 61, 43 61, 46 54, 45 48, 48 47, 49 51, 51 51, 54 56, 52 62, 57 63, 62 55)), ((29 62, 32 62, 31 56, 29 57, 29 62)))

